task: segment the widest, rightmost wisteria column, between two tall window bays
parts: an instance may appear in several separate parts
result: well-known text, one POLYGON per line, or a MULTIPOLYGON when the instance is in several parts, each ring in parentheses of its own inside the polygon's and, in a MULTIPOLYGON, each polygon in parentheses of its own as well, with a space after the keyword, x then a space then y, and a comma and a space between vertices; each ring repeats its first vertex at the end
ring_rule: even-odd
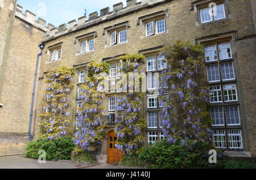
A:
POLYGON ((210 99, 208 82, 203 76, 202 52, 201 45, 181 41, 162 49, 166 57, 162 63, 168 64, 160 75, 163 78, 160 81, 160 105, 163 106, 160 116, 164 136, 170 143, 212 140, 209 113, 201 109, 210 99))

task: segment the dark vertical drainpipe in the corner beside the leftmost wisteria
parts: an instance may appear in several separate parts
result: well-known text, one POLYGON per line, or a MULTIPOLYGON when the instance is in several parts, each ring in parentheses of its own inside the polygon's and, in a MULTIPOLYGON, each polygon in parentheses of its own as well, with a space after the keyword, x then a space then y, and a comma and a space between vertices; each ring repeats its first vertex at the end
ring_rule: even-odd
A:
POLYGON ((35 98, 35 86, 36 86, 36 78, 38 76, 38 64, 39 64, 39 58, 43 54, 44 44, 40 44, 38 46, 41 50, 40 53, 38 53, 38 59, 36 61, 36 71, 35 71, 35 79, 34 79, 34 88, 33 88, 33 94, 32 94, 32 102, 31 102, 31 109, 30 109, 30 126, 28 128, 28 135, 30 136, 30 142, 32 140, 32 134, 31 134, 31 122, 32 122, 32 115, 33 115, 33 108, 34 108, 34 98, 35 98))

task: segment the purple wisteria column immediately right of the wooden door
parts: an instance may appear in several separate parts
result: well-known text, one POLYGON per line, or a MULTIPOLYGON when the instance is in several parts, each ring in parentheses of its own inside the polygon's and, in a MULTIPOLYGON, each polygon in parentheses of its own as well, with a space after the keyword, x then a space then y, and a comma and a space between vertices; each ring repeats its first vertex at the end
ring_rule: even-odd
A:
POLYGON ((143 93, 135 91, 136 84, 134 80, 136 77, 133 74, 135 72, 138 73, 137 75, 141 75, 141 65, 144 61, 144 55, 138 54, 127 54, 119 57, 119 72, 123 72, 130 79, 133 79, 133 84, 121 85, 120 89, 117 89, 117 91, 122 89, 129 90, 129 88, 133 87, 133 92, 129 91, 123 96, 117 96, 115 105, 117 110, 115 132, 119 140, 121 140, 117 148, 127 154, 136 153, 144 142, 142 129, 146 127, 146 119, 143 118, 143 109, 141 109, 143 93))

